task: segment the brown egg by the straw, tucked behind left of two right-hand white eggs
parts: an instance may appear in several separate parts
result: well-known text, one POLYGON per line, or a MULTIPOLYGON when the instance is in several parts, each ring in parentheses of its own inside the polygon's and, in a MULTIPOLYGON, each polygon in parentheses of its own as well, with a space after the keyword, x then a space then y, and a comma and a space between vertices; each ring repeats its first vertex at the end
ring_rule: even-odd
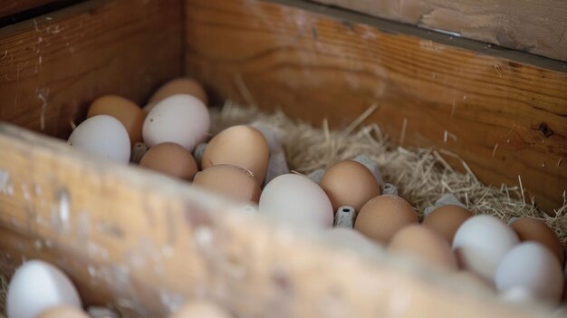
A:
POLYGON ((433 210, 425 217, 423 225, 444 236, 449 243, 452 243, 456 230, 465 223, 467 218, 472 216, 473 213, 465 207, 446 205, 433 210))

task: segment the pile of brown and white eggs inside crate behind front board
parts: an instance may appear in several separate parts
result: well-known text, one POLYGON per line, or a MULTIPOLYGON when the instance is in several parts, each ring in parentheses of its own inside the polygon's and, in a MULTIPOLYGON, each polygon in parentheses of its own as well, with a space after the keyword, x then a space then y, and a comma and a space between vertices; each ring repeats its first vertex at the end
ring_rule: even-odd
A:
POLYGON ((289 173, 269 127, 232 126, 212 138, 209 128, 205 91, 198 82, 177 79, 143 109, 119 96, 99 98, 68 143, 257 204, 257 213, 278 225, 321 233, 362 254, 386 247, 508 298, 559 304, 565 294, 563 246, 540 220, 524 217, 508 226, 496 217, 474 216, 457 202, 436 207, 420 223, 368 157, 303 176, 289 173))

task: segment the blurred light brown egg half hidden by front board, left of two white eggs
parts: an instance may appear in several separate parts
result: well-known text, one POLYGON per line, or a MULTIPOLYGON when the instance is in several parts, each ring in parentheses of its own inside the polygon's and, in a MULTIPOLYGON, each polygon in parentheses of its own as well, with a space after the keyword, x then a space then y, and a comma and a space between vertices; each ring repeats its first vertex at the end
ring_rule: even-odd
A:
POLYGON ((389 242, 389 251, 414 256, 429 265, 456 270, 456 256, 444 236, 421 225, 406 226, 389 242))

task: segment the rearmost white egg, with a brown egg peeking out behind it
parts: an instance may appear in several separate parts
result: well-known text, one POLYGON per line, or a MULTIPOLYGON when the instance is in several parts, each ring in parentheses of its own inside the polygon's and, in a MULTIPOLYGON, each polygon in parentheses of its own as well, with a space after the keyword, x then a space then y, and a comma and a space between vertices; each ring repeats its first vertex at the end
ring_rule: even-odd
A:
POLYGON ((149 147, 169 141, 193 151, 207 138, 209 125, 207 106, 196 97, 178 94, 159 101, 149 111, 142 135, 149 147))

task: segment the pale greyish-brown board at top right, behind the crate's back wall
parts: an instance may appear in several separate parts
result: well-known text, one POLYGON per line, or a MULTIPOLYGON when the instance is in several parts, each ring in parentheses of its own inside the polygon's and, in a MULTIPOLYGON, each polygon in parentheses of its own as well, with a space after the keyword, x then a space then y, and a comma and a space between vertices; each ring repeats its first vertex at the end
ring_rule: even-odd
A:
POLYGON ((313 0, 567 61, 562 0, 313 0))

